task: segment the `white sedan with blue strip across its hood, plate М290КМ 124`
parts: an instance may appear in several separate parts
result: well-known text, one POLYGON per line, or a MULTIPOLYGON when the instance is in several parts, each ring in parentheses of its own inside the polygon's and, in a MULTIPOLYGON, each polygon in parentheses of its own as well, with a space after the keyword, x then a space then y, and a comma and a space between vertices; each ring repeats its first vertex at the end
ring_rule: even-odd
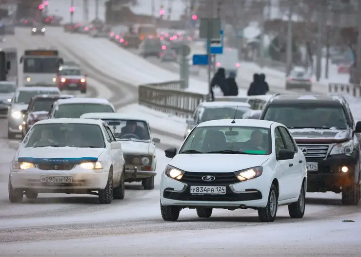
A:
POLYGON ((48 119, 35 123, 18 149, 9 175, 9 200, 38 193, 95 194, 100 203, 124 198, 120 142, 108 125, 91 119, 48 119))

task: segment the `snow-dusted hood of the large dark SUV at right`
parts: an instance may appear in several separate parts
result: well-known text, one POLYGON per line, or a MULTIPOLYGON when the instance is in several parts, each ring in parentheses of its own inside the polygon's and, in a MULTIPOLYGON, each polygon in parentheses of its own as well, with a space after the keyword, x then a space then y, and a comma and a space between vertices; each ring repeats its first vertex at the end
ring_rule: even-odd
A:
POLYGON ((335 143, 350 139, 349 129, 289 129, 297 143, 335 143))

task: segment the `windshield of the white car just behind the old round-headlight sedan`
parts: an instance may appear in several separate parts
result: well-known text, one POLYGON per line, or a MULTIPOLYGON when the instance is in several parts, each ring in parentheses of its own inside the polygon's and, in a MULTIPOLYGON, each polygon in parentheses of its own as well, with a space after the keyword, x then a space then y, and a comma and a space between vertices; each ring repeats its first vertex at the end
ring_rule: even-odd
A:
POLYGON ((89 112, 114 112, 109 105, 104 104, 61 104, 54 113, 54 118, 79 118, 84 113, 89 112))

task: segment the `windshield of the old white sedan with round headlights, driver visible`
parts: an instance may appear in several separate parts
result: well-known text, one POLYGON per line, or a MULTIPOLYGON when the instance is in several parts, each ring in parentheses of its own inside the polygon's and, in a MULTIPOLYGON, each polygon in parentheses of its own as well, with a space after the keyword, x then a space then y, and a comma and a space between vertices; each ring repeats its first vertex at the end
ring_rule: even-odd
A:
POLYGON ((118 140, 150 140, 148 124, 139 120, 103 119, 118 140))

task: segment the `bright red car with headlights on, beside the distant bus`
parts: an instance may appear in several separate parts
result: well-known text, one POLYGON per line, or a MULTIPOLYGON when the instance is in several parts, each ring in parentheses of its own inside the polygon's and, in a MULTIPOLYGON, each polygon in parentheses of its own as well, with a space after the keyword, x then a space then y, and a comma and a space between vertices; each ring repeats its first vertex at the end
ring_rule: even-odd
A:
POLYGON ((80 67, 61 66, 58 72, 58 88, 62 90, 80 91, 86 93, 86 74, 80 67))

